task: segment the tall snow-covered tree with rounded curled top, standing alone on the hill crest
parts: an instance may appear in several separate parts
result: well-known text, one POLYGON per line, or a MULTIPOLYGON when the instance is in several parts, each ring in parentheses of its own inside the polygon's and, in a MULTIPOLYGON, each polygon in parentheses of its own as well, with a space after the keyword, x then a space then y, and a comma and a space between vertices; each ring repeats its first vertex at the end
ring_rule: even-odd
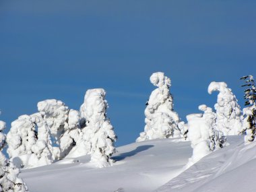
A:
POLYGON ((151 75, 150 82, 158 88, 151 93, 146 104, 146 126, 136 141, 181 137, 178 127, 179 115, 173 111, 170 78, 162 72, 157 72, 151 75))

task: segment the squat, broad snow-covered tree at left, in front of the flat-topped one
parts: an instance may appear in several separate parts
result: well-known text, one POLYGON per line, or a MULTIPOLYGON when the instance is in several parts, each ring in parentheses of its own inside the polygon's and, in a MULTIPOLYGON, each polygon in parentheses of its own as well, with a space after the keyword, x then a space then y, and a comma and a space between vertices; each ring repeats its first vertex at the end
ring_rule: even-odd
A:
POLYGON ((53 148, 49 127, 40 113, 22 115, 11 123, 7 153, 18 168, 51 164, 53 148))

